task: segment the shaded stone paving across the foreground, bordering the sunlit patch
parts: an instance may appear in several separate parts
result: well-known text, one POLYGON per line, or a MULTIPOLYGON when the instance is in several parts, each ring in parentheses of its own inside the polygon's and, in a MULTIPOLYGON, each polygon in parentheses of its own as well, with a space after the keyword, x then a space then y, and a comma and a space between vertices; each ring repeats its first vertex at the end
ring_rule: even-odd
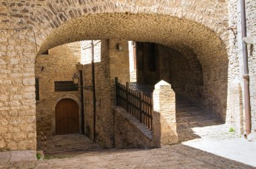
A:
POLYGON ((39 160, 36 168, 252 168, 183 144, 152 150, 98 150, 39 160))

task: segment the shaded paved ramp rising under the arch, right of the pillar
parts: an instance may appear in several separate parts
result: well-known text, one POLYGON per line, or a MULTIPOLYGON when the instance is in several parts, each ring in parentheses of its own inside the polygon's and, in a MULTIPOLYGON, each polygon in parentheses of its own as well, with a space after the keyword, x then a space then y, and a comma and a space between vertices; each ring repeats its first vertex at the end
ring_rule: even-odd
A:
POLYGON ((218 115, 206 111, 199 103, 177 96, 176 100, 177 133, 180 142, 200 138, 193 131, 193 127, 205 127, 223 124, 218 115))

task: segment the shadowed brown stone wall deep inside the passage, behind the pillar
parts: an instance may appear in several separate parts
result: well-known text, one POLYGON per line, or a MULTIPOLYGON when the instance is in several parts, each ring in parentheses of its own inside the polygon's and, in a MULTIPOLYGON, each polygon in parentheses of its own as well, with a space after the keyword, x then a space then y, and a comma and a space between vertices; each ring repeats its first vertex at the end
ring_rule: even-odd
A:
POLYGON ((159 80, 172 84, 177 94, 201 101, 205 93, 202 93, 203 72, 197 56, 193 52, 181 54, 166 46, 158 46, 158 50, 159 80))

